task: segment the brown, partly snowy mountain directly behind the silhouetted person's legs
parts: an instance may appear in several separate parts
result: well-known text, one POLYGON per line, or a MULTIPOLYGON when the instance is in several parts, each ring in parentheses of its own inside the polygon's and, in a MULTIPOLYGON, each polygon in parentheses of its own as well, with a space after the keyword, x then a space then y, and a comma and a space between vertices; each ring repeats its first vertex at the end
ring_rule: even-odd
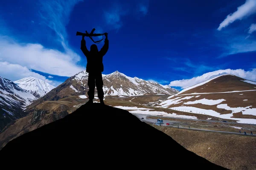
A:
MULTIPOLYGON (((118 71, 111 74, 102 74, 103 79, 103 91, 104 96, 136 96, 147 94, 177 94, 175 88, 171 88, 169 85, 160 85, 156 82, 149 82, 137 77, 128 77, 118 71)), ((29 108, 34 108, 36 105, 51 100, 59 100, 70 96, 87 95, 89 90, 88 85, 88 73, 81 71, 67 79, 64 83, 50 91, 41 99, 32 103, 29 108)), ((97 91, 95 90, 95 95, 97 91)), ((97 95, 96 95, 97 96, 97 95)))

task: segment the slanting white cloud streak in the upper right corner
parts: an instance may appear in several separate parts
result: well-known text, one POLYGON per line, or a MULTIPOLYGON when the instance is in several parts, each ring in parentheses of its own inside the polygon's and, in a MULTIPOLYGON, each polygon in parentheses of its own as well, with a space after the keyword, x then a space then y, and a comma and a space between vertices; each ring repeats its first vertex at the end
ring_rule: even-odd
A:
POLYGON ((233 14, 228 14, 226 19, 220 23, 218 30, 228 26, 236 20, 242 20, 251 14, 256 13, 256 0, 246 0, 246 2, 239 6, 233 14))

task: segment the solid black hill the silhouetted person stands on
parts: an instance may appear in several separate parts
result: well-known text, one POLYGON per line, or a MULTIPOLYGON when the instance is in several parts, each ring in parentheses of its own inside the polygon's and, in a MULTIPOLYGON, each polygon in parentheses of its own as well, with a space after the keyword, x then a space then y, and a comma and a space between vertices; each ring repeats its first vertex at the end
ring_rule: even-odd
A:
POLYGON ((41 163, 64 167, 66 160, 76 166, 115 169, 158 165, 173 169, 225 169, 186 150, 128 111, 99 103, 82 105, 63 119, 12 140, 0 150, 0 159, 46 159, 41 163))

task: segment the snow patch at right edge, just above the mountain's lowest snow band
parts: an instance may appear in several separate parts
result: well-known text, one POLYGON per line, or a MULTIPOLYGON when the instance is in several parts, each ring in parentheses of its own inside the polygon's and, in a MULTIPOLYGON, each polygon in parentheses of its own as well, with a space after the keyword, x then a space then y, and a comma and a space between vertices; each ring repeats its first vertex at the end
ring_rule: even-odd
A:
POLYGON ((238 107, 238 108, 230 108, 227 104, 221 104, 217 105, 217 108, 225 109, 228 111, 232 111, 232 113, 239 113, 242 112, 243 114, 248 114, 248 115, 254 115, 256 116, 256 108, 250 108, 252 106, 247 106, 245 108, 238 107))

